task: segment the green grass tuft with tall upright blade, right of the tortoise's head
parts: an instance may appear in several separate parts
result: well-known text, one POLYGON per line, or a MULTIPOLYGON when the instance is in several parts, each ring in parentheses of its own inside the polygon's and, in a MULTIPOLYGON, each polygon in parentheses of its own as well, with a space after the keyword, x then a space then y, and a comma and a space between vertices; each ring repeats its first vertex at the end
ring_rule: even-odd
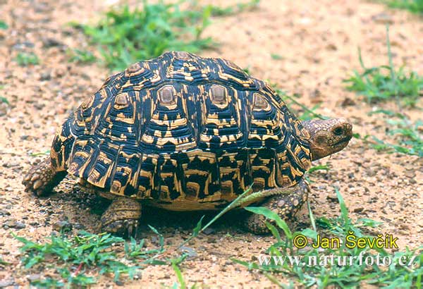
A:
POLYGON ((361 50, 358 59, 362 73, 355 70, 350 78, 343 80, 347 89, 364 95, 367 102, 374 103, 388 99, 396 99, 398 104, 415 106, 423 94, 423 78, 415 72, 406 73, 404 67, 393 66, 389 27, 386 26, 386 46, 388 48, 388 65, 366 68, 362 60, 361 50))

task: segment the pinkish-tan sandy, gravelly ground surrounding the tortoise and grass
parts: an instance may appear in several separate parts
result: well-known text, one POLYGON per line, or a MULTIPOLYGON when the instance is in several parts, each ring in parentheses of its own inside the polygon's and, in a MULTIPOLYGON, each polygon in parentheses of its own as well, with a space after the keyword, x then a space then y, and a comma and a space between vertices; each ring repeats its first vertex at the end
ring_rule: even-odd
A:
MULTIPOLYGON (((0 104, 0 257, 11 263, 6 268, 0 266, 0 287, 28 284, 28 273, 18 266, 20 243, 11 232, 43 240, 51 233, 52 225, 65 217, 74 230, 95 231, 99 220, 99 215, 81 200, 74 179, 66 179, 49 199, 27 195, 20 184, 23 172, 41 159, 30 154, 47 151, 54 131, 68 113, 110 74, 94 64, 69 63, 66 56, 68 47, 94 51, 80 32, 66 26, 70 20, 90 23, 107 8, 102 1, 87 2, 0 1, 0 18, 10 26, 0 30, 0 95, 10 102, 10 106, 0 104), (20 51, 34 51, 40 64, 18 66, 13 59, 20 51)), ((299 94, 300 102, 307 106, 323 102, 320 113, 349 118, 355 133, 393 141, 385 135, 386 122, 381 116, 367 115, 376 107, 347 92, 342 83, 353 68, 359 68, 357 47, 361 47, 367 66, 387 62, 387 21, 391 23, 394 63, 405 64, 422 75, 423 21, 406 11, 392 11, 365 1, 262 0, 256 11, 214 19, 205 35, 221 44, 214 51, 203 51, 202 56, 222 56, 249 67, 253 76, 276 82, 290 94, 299 94), (271 54, 280 54, 283 59, 271 59, 271 54)), ((381 107, 396 109, 393 104, 381 107)), ((422 116, 417 109, 401 112, 412 119, 422 116)), ((343 152, 317 164, 328 164, 331 170, 313 178, 316 182, 310 199, 316 217, 339 214, 335 185, 353 219, 383 221, 380 232, 398 237, 401 250, 423 243, 422 159, 379 153, 353 139, 343 152)), ((147 216, 146 222, 164 233, 166 245, 178 245, 199 219, 191 214, 161 215, 161 219, 147 216)), ((188 285, 272 286, 265 276, 247 271, 229 258, 251 260, 274 239, 245 233, 232 223, 231 216, 226 217, 209 235, 200 235, 190 243, 197 257, 181 265, 188 285)), ((309 226, 305 208, 292 226, 309 226)), ((146 229, 142 237, 154 246, 154 234, 146 229)), ((125 285, 172 285, 175 281, 171 268, 151 266, 143 271, 140 281, 125 285)), ((103 278, 101 284, 114 283, 103 278)))

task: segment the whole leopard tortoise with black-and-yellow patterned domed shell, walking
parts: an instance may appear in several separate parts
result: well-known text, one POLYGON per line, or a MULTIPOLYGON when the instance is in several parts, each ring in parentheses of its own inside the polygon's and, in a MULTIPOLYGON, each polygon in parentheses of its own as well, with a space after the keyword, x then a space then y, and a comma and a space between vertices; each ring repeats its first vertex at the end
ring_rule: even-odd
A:
MULTIPOLYGON (((112 199, 100 223, 118 234, 135 232, 144 205, 219 210, 249 187, 258 192, 249 203, 287 219, 307 199, 312 161, 351 136, 345 118, 300 121, 231 61, 170 51, 111 75, 57 130, 23 184, 43 196, 68 173, 79 177, 85 190, 112 199)), ((266 231, 262 216, 244 223, 266 231)))

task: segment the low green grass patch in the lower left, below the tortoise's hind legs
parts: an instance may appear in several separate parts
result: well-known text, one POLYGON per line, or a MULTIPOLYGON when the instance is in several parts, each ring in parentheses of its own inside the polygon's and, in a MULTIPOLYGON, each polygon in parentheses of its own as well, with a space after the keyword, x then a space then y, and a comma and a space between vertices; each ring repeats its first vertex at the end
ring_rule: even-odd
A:
MULTIPOLYGON (((156 231, 157 232, 157 231, 156 231)), ((164 244, 154 250, 145 250, 144 242, 134 239, 130 243, 108 233, 99 235, 81 231, 73 238, 52 234, 48 242, 38 243, 13 235, 23 243, 21 262, 25 269, 54 270, 60 278, 42 278, 33 282, 41 287, 87 286, 97 282, 96 275, 113 274, 114 281, 121 276, 133 278, 146 264, 168 264, 155 256, 164 250, 164 244), (118 254, 124 244, 124 256, 118 254)), ((161 238, 162 240, 162 238, 161 238)))

